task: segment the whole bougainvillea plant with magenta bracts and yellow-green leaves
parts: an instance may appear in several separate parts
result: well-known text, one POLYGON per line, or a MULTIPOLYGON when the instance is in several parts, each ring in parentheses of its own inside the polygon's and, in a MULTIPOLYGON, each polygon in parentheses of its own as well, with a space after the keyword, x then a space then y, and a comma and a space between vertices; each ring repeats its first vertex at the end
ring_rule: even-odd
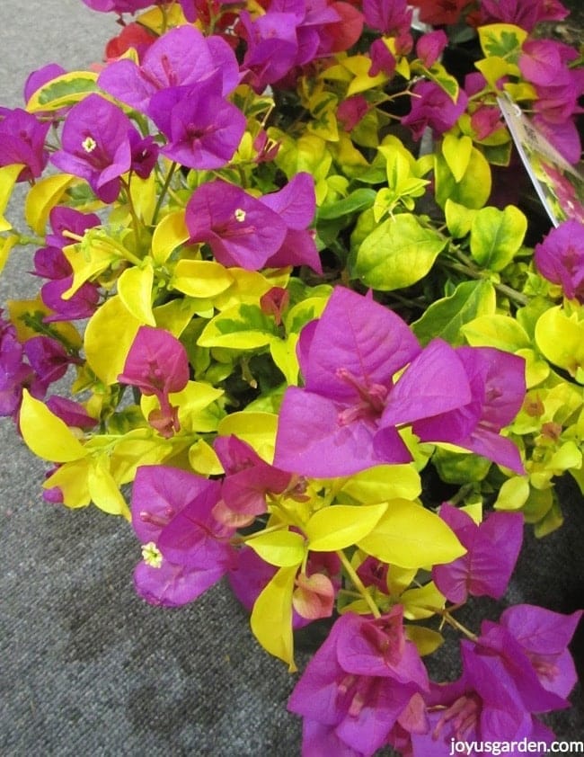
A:
POLYGON ((146 601, 226 576, 291 672, 329 619, 306 755, 549 743, 580 611, 456 615, 561 525, 558 476, 584 490, 582 217, 531 229, 498 105, 577 173, 582 58, 541 31, 566 9, 84 2, 122 23, 106 62, 0 110, 0 261, 35 245, 39 284, 0 312, 0 413, 45 498, 131 523, 146 601), (445 624, 462 672, 430 681, 445 624))

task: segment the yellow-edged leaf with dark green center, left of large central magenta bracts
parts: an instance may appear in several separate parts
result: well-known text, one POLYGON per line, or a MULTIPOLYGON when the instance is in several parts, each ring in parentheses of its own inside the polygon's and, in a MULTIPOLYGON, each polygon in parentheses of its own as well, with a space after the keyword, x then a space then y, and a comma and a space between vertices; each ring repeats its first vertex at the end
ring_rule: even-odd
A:
POLYGON ((255 350, 278 337, 278 329, 272 317, 262 313, 258 305, 242 303, 229 307, 212 318, 197 343, 200 347, 255 350))

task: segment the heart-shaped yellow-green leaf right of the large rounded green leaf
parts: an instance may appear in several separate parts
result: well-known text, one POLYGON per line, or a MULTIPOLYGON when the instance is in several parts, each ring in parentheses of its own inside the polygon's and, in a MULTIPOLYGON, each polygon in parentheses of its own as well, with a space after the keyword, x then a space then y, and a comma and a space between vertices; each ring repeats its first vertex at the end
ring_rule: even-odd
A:
POLYGON ((518 253, 526 230, 527 218, 514 205, 482 208, 471 226, 471 255, 483 268, 502 271, 518 253))

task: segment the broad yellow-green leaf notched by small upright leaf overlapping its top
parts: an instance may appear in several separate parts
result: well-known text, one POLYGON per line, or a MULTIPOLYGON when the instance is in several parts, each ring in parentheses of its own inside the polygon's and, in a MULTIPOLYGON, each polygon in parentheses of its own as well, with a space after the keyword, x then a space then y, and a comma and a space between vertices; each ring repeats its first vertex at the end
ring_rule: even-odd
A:
POLYGON ((476 147, 471 150, 465 174, 459 182, 448 167, 446 158, 441 153, 435 153, 434 177, 436 201, 441 208, 445 207, 447 200, 453 200, 466 208, 479 209, 491 194, 491 168, 476 147))

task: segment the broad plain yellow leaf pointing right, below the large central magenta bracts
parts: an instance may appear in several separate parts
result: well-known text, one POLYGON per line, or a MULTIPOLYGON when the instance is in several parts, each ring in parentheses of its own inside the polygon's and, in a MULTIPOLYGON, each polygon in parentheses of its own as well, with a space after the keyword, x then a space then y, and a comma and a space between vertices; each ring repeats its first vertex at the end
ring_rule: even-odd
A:
POLYGON ((358 547, 402 567, 450 563, 466 551, 438 515, 404 499, 388 503, 385 515, 374 530, 359 539, 358 547))

